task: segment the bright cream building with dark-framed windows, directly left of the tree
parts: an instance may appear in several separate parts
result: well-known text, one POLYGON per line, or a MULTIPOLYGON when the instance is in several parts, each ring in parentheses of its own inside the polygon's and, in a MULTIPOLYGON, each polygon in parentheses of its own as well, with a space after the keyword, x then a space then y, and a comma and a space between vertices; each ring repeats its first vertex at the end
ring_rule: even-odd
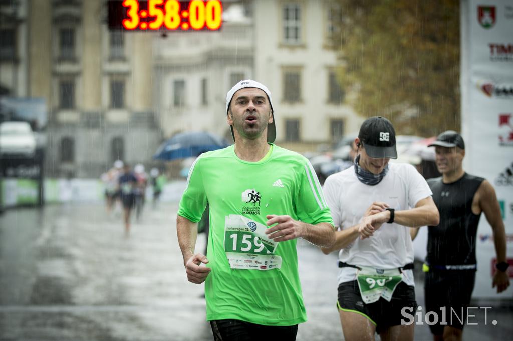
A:
POLYGON ((255 75, 268 84, 277 112, 277 141, 296 150, 331 146, 358 132, 363 119, 345 104, 337 80, 340 9, 328 0, 254 3, 255 75))

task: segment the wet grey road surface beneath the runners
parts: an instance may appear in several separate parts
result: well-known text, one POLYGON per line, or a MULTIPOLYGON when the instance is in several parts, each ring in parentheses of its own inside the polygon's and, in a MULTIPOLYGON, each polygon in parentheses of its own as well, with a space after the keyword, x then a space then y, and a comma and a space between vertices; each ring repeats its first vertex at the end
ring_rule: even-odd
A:
MULTIPOLYGON (((120 212, 108 215, 101 204, 6 211, 0 340, 211 340, 203 285, 186 280, 176 210, 176 203, 148 205, 129 238, 120 212)), ((196 251, 204 245, 199 235, 196 251)), ((308 322, 297 339, 341 340, 336 256, 304 241, 298 251, 308 322)), ((423 304, 422 282, 417 295, 423 304)), ((488 310, 488 326, 468 326, 464 338, 509 339, 512 317, 510 307, 488 310)), ((426 325, 417 326, 416 339, 432 339, 426 325)))

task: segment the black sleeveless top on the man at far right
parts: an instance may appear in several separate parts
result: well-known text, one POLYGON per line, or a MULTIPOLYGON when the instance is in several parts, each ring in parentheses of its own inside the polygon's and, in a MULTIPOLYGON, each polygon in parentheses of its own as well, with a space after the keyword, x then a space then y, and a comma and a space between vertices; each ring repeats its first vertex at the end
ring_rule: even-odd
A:
POLYGON ((440 212, 440 224, 428 227, 426 261, 429 265, 476 264, 481 214, 472 213, 472 201, 483 181, 466 173, 449 184, 444 184, 442 178, 427 181, 440 212))

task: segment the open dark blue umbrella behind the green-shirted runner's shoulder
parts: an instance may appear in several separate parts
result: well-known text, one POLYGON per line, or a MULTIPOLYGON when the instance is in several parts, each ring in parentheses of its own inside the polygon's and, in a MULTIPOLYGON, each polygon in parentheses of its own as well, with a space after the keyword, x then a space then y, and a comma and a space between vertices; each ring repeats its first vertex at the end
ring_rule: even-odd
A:
POLYGON ((181 133, 162 143, 153 155, 153 159, 164 161, 186 159, 227 146, 226 141, 210 133, 181 133))

